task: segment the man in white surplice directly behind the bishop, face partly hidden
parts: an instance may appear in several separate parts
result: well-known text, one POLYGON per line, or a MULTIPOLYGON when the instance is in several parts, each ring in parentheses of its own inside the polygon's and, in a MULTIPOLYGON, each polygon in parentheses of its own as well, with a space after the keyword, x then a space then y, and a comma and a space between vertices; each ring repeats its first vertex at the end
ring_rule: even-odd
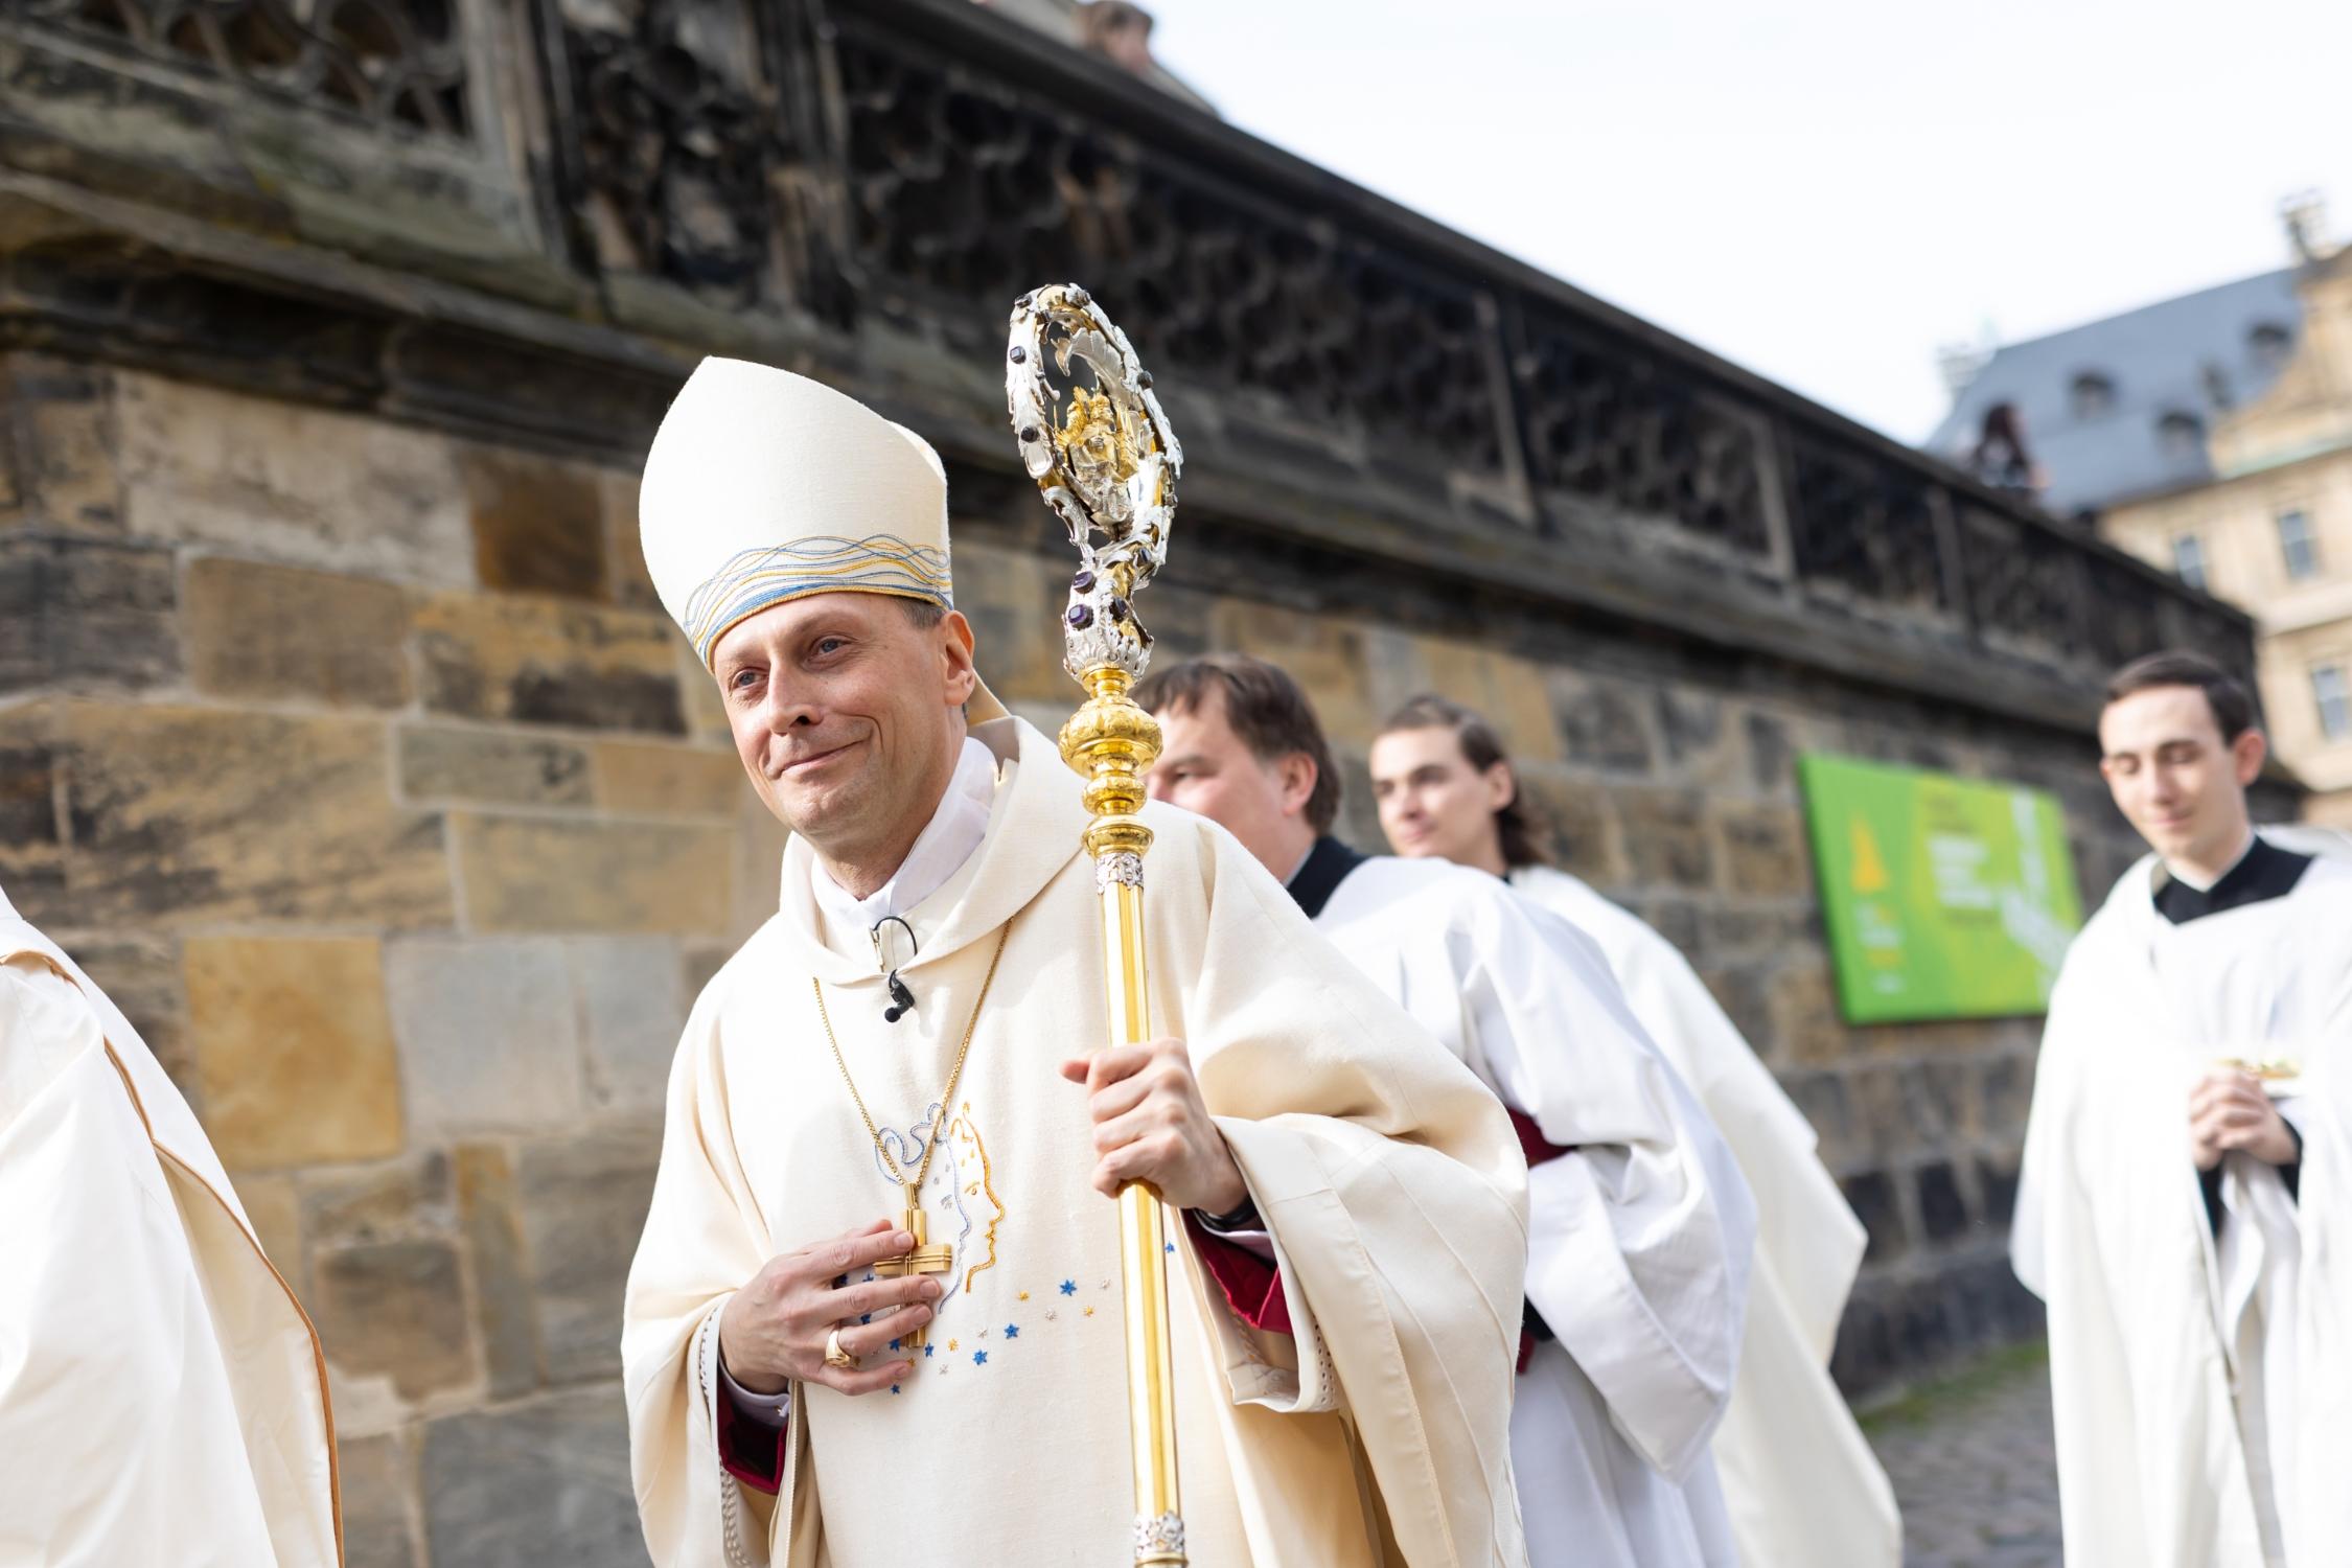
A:
POLYGON ((1529 1159, 1529 1338, 1510 1418, 1536 1568, 1738 1561, 1708 1439, 1729 1396, 1755 1206, 1599 950, 1491 877, 1329 837, 1338 771, 1256 658, 1148 679, 1157 799, 1223 823, 1315 929, 1503 1100, 1529 1159))

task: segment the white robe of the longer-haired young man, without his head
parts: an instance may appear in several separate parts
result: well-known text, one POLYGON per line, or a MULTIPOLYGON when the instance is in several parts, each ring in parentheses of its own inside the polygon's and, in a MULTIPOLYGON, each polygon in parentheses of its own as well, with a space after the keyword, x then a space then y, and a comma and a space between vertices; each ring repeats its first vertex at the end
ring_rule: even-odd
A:
POLYGON ((1893 1483, 1830 1380, 1867 1237, 1816 1154, 1813 1126, 1672 943, 1550 865, 1515 870, 1510 886, 1599 945, 1632 1016, 1698 1095, 1755 1194, 1740 1371, 1712 1443, 1740 1556, 1893 1568, 1903 1561, 1893 1483))

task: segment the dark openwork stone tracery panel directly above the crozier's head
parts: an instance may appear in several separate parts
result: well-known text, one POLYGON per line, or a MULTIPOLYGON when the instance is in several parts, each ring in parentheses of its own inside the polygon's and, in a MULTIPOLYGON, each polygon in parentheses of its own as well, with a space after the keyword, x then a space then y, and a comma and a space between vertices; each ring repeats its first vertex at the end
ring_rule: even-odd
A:
POLYGON ((849 247, 877 280, 997 303, 1087 277, 1195 386, 1501 465, 1470 289, 913 49, 844 31, 837 61, 849 247))

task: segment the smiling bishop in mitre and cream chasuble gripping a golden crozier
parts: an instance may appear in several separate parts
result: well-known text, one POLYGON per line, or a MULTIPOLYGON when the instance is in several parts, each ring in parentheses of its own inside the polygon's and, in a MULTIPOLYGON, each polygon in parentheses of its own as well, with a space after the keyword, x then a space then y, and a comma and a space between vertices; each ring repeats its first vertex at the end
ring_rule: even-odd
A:
POLYGON ((1192 1561, 1522 1563, 1526 1173, 1494 1098, 1228 835, 1164 806, 1169 1039, 1098 1051, 1080 780, 976 682, 946 482, 906 430, 706 362, 654 444, 642 531, 795 827, 776 917, 680 1041, 628 1281, 654 1561, 1129 1561, 1101 1194, 1148 1178, 1188 1208, 1169 1265, 1192 1561))

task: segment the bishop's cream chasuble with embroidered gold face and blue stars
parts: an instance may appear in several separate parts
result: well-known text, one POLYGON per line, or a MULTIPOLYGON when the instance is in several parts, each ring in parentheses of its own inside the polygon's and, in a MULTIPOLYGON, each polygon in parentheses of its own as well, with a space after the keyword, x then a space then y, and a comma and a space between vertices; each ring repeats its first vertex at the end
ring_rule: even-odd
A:
MULTIPOLYGON (((795 842, 779 914, 680 1041, 621 1347, 661 1568, 1131 1561, 1117 1211, 1087 1185, 1087 1091, 1056 1072, 1108 1039, 1087 813, 1035 729, 974 733, 1000 785, 981 849, 908 910, 917 954, 898 973, 915 1011, 882 1020, 866 931, 828 926, 795 842), (720 1307, 771 1255, 903 1201, 811 978, 901 1168, 941 1140, 922 1206, 953 1265, 896 1389, 793 1385, 783 1483, 762 1497, 715 1448, 720 1307)), ((1223 830, 1160 804, 1145 820, 1152 1025, 1190 1048, 1296 1328, 1247 1328, 1169 1227, 1192 1561, 1522 1563, 1508 1408, 1526 1178, 1503 1110, 1223 830)))

